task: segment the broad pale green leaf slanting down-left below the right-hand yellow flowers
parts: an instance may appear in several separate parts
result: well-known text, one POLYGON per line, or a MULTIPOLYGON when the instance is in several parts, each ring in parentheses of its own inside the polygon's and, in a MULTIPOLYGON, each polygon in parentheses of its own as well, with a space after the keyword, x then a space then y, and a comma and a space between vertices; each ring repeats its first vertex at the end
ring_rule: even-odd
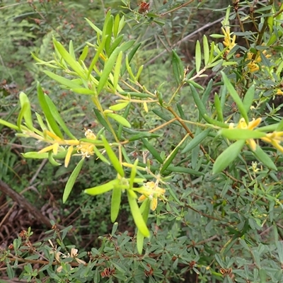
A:
POLYGON ((214 174, 220 173, 223 171, 230 163, 232 163, 238 154, 241 152, 241 149, 245 145, 245 140, 241 139, 239 141, 234 142, 225 149, 217 158, 213 165, 212 172, 214 174))

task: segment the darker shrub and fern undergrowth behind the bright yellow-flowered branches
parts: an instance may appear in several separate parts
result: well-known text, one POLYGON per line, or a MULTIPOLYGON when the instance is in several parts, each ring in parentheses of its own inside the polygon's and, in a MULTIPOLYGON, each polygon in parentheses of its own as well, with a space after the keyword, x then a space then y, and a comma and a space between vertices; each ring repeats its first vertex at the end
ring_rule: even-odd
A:
MULTIPOLYGON (((117 222, 112 224, 110 193, 83 194, 88 187, 115 179, 117 173, 112 166, 93 156, 86 159, 69 199, 63 204, 64 187, 80 159, 72 157, 67 168, 52 166, 44 159, 25 159, 21 153, 39 151, 42 144, 15 137, 13 129, 0 123, 0 180, 52 221, 52 228, 46 227, 1 192, 0 219, 4 220, 0 222, 0 242, 4 244, 0 249, 0 277, 3 278, 0 283, 8 279, 19 282, 283 282, 282 153, 257 139, 264 154, 245 145, 231 162, 224 164, 225 169, 218 171, 214 165, 234 142, 229 140, 229 133, 226 139, 219 130, 230 122, 237 125, 245 116, 241 103, 236 103, 231 95, 235 89, 242 101, 248 88, 255 86, 250 103, 253 107, 246 109, 249 121, 260 117, 261 126, 273 127, 282 120, 282 96, 276 93, 283 86, 280 69, 283 30, 281 25, 270 24, 271 20, 267 23, 270 15, 275 18, 276 13, 281 14, 279 1, 273 2, 262 1, 256 6, 255 1, 154 0, 150 1, 149 14, 143 14, 138 1, 1 1, 1 119, 16 124, 21 110, 18 103, 21 91, 30 100, 33 118, 35 112, 42 115, 36 91, 40 81, 75 137, 83 137, 84 128, 97 133, 102 125, 93 112, 91 96, 79 96, 62 88, 43 73, 54 69, 35 64, 31 52, 45 62, 54 59, 54 37, 67 50, 72 40, 74 53, 79 57, 85 42, 92 45, 97 42, 95 30, 84 18, 103 29, 105 15, 111 9, 114 16, 125 15, 123 40, 141 43, 130 65, 134 74, 141 65, 144 70, 137 82, 129 81, 127 86, 134 88, 139 84, 140 91, 149 90, 163 96, 156 103, 148 103, 149 112, 144 111, 144 105, 134 104, 129 108, 127 120, 132 129, 140 132, 161 126, 154 132, 158 137, 148 139, 161 161, 176 146, 180 150, 170 167, 162 172, 164 183, 159 185, 166 189, 165 198, 149 213, 150 237, 145 238, 143 254, 139 254, 137 229, 127 197, 122 195, 117 222), (229 25, 237 35, 237 45, 225 50, 224 38, 216 35, 223 35, 221 21, 229 5, 229 25), (274 34, 275 42, 268 45, 274 34), (179 59, 178 66, 192 71, 198 60, 196 42, 200 40, 203 46, 203 35, 207 35, 209 42, 219 42, 219 50, 212 54, 216 57, 221 53, 221 62, 205 68, 202 62, 201 70, 204 68, 207 76, 200 76, 199 70, 192 76, 185 74, 182 81, 183 69, 179 69, 180 79, 176 76, 174 60, 179 59), (271 57, 265 56, 263 50, 271 57), (247 57, 250 53, 255 57, 259 51, 259 70, 253 73, 247 57), (231 88, 225 82, 226 76, 233 84, 231 88), (171 100, 173 93, 175 98, 171 100), (197 98, 202 98, 202 103, 197 98), (163 101, 168 105, 162 105, 163 101), (203 105, 211 118, 209 122, 203 119, 203 105), (178 122, 162 127, 174 117, 179 118, 178 122), (195 138, 180 144, 188 135, 187 128, 195 138), (203 139, 192 146, 190 141, 200 139, 199 134, 203 139)), ((86 66, 95 54, 90 48, 84 61, 86 66)), ((103 67, 101 58, 98 64, 103 67)), ((67 76, 62 70, 54 72, 67 76)), ((120 79, 127 81, 127 77, 126 72, 120 79)), ((107 88, 100 93, 104 109, 114 105, 116 99, 107 88)), ((262 132, 276 129, 280 132, 282 125, 262 132)), ((158 175, 162 171, 158 158, 146 149, 144 141, 127 142, 128 137, 131 136, 127 131, 122 133, 129 161, 134 163, 139 158, 139 166, 145 167, 143 154, 146 153, 151 173, 158 175)), ((109 133, 107 138, 113 141, 109 133)), ((129 178, 131 169, 125 167, 125 172, 129 178)), ((140 172, 146 180, 153 180, 153 174, 140 172)))

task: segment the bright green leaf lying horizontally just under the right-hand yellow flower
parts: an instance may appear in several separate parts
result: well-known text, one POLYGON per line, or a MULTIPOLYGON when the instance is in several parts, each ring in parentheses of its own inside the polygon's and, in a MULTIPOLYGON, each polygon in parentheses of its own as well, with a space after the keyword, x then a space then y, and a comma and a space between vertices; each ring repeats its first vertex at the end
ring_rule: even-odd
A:
POLYGON ((261 137, 265 137, 266 134, 264 132, 258 132, 253 129, 221 129, 219 131, 223 137, 227 139, 260 139, 261 137))

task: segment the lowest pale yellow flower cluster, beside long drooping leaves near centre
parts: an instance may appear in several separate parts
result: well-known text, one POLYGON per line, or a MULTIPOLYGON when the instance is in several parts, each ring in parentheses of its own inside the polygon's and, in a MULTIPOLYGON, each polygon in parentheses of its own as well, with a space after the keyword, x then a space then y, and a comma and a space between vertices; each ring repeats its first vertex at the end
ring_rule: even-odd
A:
POLYGON ((155 210, 157 207, 157 199, 161 199, 162 196, 165 194, 165 190, 161 187, 158 187, 158 181, 154 182, 147 182, 146 185, 137 190, 142 195, 139 197, 139 202, 143 202, 146 200, 146 197, 151 200, 151 210, 155 210))

